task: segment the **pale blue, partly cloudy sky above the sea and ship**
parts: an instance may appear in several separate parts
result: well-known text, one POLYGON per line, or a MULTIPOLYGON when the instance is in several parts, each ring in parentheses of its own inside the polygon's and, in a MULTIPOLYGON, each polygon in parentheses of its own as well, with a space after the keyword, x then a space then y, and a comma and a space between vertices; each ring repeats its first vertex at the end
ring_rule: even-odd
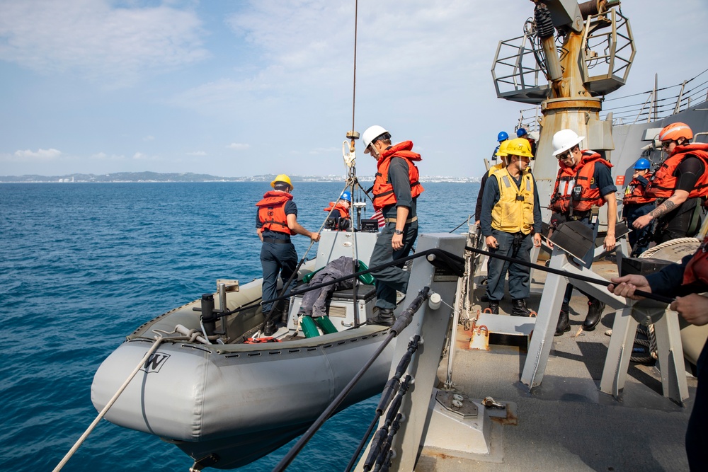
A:
MULTIPOLYGON (((0 0, 0 175, 346 172, 351 1, 0 0)), ((479 176, 527 105, 496 98, 498 41, 528 0, 360 0, 355 128, 387 127, 423 175, 479 176)), ((624 0, 617 95, 704 71, 708 2, 624 0)), ((610 96, 611 98, 612 96, 610 96)), ((358 152, 358 172, 375 163, 358 152)))

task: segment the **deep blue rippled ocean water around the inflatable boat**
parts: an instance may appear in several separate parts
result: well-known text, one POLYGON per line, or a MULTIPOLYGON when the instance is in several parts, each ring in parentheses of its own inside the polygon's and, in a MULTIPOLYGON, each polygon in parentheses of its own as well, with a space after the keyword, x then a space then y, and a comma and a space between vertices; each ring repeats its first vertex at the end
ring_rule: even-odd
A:
MULTIPOLYGON (((421 232, 451 231, 474 213, 479 184, 425 187, 421 232)), ((267 183, 0 184, 0 471, 57 466, 98 414, 94 372, 137 326, 213 292, 217 278, 261 276, 253 205, 265 190, 267 183)), ((298 221, 319 229, 341 190, 297 183, 298 221)), ((302 258, 309 240, 294 241, 302 258)), ((288 471, 343 470, 376 404, 370 398, 331 418, 288 471)), ((292 444, 239 470, 270 471, 292 444)), ((186 472, 192 464, 157 437, 102 420, 62 470, 186 472)))

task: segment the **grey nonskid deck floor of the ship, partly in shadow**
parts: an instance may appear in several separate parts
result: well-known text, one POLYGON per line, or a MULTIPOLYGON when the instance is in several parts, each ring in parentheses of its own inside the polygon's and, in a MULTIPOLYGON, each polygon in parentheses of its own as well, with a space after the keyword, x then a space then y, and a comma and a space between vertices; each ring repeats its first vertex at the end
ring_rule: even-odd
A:
MULTIPOLYGON (((610 263, 596 263, 593 270, 607 278, 616 273, 610 263)), ((533 279, 528 306, 538 309, 540 294, 533 292, 542 289, 544 274, 535 272, 533 279)), ((483 294, 484 287, 474 292, 475 310, 486 307, 479 304, 483 294)), ((501 313, 510 313, 508 292, 500 308, 501 313)), ((496 443, 503 449, 501 462, 493 454, 479 460, 421 456, 416 470, 687 471, 684 437, 696 379, 687 379, 690 398, 685 407, 662 396, 656 367, 634 362, 619 401, 601 392, 598 387, 610 343, 605 332, 612 328, 614 314, 606 308, 595 330, 573 338, 586 313, 586 297, 574 291, 571 331, 554 338, 542 384, 532 392, 519 381, 526 360, 523 342, 492 343, 489 352, 469 350, 471 333, 457 326, 452 375, 457 391, 470 398, 492 396, 515 403, 518 424, 494 425, 493 447, 496 443)), ((442 359, 439 379, 445 379, 446 365, 447 358, 442 359)))

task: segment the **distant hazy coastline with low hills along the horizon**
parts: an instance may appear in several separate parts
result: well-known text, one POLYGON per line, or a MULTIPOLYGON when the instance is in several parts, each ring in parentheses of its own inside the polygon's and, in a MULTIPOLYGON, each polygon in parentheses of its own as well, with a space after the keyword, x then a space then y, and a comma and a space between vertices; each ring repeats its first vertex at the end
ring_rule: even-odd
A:
MULTIPOLYGON (((218 177, 198 173, 117 172, 108 174, 75 173, 69 175, 0 175, 0 183, 121 183, 121 182, 270 182, 275 174, 251 177, 218 177)), ((293 182, 343 182, 345 175, 290 175, 293 182)), ((373 182, 373 175, 362 175, 362 182, 373 182)), ((421 175, 421 182, 476 183, 479 177, 421 175)))

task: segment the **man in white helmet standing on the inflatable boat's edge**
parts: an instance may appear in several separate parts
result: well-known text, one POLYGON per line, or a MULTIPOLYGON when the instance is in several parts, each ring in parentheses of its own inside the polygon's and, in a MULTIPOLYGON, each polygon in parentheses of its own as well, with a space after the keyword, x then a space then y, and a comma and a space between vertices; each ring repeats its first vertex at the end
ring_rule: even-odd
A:
MULTIPOLYGON (((380 209, 386 221, 370 259, 370 266, 377 267, 409 255, 418 237, 416 202, 423 185, 418 181, 415 162, 421 160, 421 155, 411 151, 411 141, 392 146, 391 134, 378 125, 367 128, 362 141, 364 154, 377 160, 374 209, 380 209)), ((401 264, 375 270, 372 275, 376 279, 375 306, 379 310, 367 323, 392 326, 396 292, 406 293, 410 272, 403 270, 401 264)))

